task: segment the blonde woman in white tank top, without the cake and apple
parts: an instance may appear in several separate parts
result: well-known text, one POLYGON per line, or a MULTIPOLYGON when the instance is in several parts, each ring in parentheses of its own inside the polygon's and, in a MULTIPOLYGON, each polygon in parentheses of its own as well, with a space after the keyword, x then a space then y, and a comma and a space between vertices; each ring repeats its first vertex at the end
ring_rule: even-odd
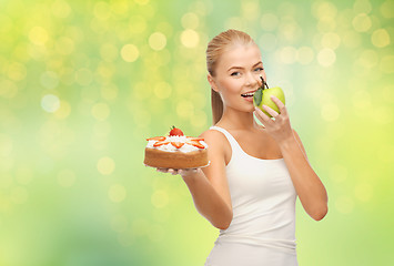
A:
POLYGON ((284 104, 280 113, 253 105, 266 80, 261 53, 244 32, 228 30, 206 49, 213 124, 201 134, 210 165, 198 170, 159 170, 180 174, 196 209, 220 235, 205 265, 297 265, 295 200, 315 221, 327 213, 327 194, 312 170, 284 104), (264 125, 259 125, 253 116, 264 125))

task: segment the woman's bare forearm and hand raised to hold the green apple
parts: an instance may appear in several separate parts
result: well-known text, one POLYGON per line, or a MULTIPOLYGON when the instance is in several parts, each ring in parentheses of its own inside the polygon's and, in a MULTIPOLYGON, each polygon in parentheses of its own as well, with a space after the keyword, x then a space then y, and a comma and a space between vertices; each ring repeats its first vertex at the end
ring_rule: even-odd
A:
POLYGON ((310 165, 299 135, 291 129, 284 104, 277 98, 273 96, 272 100, 280 108, 281 114, 277 114, 269 106, 264 106, 264 110, 275 120, 271 120, 259 109, 255 110, 255 114, 279 144, 294 188, 305 212, 312 218, 320 221, 327 213, 327 193, 310 165))

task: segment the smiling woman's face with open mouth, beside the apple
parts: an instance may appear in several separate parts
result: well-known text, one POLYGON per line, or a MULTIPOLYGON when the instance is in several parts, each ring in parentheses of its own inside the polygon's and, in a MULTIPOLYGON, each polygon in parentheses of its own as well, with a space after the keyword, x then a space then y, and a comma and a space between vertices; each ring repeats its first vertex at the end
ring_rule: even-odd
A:
POLYGON ((236 44, 220 58, 215 76, 209 75, 213 90, 223 99, 225 108, 253 112, 253 93, 265 78, 261 53, 255 44, 236 44))

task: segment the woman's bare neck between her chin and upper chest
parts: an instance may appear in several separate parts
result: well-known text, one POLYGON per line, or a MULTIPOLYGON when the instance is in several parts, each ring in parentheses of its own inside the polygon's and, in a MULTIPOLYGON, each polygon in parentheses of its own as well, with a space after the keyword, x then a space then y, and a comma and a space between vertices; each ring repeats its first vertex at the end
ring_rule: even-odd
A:
POLYGON ((240 112, 230 108, 223 110, 222 119, 218 122, 218 125, 228 130, 252 130, 259 126, 253 113, 240 112))

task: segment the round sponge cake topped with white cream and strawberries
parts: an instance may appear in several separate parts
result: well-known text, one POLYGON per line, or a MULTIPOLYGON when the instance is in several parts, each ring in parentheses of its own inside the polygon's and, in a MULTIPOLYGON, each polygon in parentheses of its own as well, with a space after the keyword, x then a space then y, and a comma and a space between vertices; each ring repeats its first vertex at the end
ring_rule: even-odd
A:
POLYGON ((172 127, 168 136, 147 139, 144 164, 156 168, 198 168, 209 164, 208 144, 202 137, 185 136, 172 127))

